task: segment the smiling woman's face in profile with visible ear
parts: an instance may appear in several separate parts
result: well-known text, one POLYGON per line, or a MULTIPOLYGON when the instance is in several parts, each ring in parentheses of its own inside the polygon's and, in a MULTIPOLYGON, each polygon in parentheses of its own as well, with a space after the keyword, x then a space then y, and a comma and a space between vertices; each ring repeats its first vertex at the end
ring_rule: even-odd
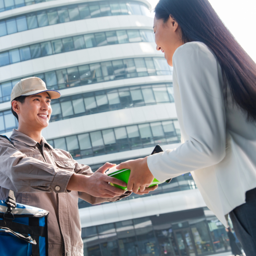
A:
POLYGON ((155 33, 156 49, 165 54, 167 63, 172 66, 172 56, 175 50, 181 46, 181 31, 178 23, 170 16, 164 23, 161 19, 154 18, 153 30, 155 33))

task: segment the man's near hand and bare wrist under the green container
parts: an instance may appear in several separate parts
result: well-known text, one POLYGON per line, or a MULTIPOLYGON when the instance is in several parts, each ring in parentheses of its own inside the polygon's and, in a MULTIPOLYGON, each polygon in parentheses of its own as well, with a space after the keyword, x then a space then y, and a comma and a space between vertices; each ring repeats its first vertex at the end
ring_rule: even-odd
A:
POLYGON ((107 162, 105 165, 101 166, 94 174, 91 176, 82 174, 73 174, 70 177, 67 190, 74 190, 85 192, 94 197, 116 197, 121 196, 125 193, 125 190, 121 188, 116 188, 108 184, 108 182, 117 184, 122 187, 126 187, 126 183, 118 180, 117 178, 107 176, 105 173, 108 168, 115 166, 115 164, 110 164, 107 162))

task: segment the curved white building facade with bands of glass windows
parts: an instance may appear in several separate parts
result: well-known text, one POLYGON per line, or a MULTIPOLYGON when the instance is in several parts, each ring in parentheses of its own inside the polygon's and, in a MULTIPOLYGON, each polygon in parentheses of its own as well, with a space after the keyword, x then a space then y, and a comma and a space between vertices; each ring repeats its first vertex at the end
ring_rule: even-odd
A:
MULTIPOLYGON (((43 136, 97 170, 180 145, 172 68, 145 0, 0 0, 0 133, 17 121, 12 87, 37 76, 62 97, 43 136)), ((190 174, 148 195, 79 201, 84 255, 197 256, 230 250, 190 174)))

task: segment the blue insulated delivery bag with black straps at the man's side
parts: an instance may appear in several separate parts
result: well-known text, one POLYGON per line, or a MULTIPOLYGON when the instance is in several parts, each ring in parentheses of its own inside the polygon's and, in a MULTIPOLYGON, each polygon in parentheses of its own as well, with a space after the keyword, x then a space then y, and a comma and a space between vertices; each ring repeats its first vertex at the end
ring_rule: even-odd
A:
POLYGON ((49 212, 16 203, 10 190, 0 200, 0 256, 48 256, 49 212))

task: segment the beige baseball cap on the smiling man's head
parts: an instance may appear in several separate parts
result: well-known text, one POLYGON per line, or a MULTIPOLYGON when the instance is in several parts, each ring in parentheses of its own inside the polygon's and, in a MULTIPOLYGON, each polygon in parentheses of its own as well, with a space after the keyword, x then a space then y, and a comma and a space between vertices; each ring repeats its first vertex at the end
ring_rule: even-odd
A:
POLYGON ((60 97, 60 92, 55 90, 47 90, 45 82, 40 78, 33 76, 31 78, 21 79, 12 88, 11 102, 19 96, 34 95, 45 91, 47 91, 51 99, 60 97))

